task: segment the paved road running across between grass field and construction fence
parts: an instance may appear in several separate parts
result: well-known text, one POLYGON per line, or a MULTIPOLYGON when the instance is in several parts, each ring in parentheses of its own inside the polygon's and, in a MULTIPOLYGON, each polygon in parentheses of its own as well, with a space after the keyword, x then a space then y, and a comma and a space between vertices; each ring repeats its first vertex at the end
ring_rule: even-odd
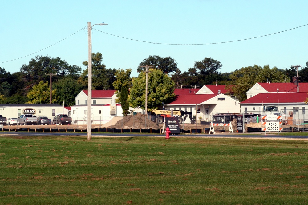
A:
MULTIPOLYGON (((87 138, 87 133, 67 133, 67 132, 1 132, 0 136, 84 136, 87 138)), ((92 137, 165 137, 162 134, 130 134, 130 133, 93 133, 92 137)), ((277 135, 277 134, 238 134, 238 133, 220 133, 220 134, 180 134, 170 135, 170 137, 225 137, 225 138, 264 138, 264 139, 301 139, 308 140, 308 136, 291 136, 291 135, 277 135)))

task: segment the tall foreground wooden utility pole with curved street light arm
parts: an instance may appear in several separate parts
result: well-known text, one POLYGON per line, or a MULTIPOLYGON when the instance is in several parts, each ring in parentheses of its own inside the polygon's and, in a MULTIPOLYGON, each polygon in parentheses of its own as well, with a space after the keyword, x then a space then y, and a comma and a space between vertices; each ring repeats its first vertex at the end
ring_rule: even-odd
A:
MULTIPOLYGON (((94 25, 108 25, 107 23, 97 23, 94 25)), ((93 26, 94 26, 93 25, 93 26)), ((91 32, 92 27, 91 22, 88 22, 88 117, 87 117, 87 136, 88 140, 91 140, 92 135, 92 39, 91 32)))

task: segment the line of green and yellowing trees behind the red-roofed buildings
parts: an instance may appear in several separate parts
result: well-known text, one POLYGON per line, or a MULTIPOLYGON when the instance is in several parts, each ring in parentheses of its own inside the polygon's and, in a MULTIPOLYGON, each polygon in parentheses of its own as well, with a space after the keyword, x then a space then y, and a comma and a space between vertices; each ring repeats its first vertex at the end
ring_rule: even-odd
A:
MULTIPOLYGON (((75 97, 87 89, 87 65, 85 69, 70 65, 59 57, 36 56, 23 64, 19 72, 10 73, 0 67, 0 104, 49 103, 50 76, 52 76, 52 103, 75 105, 75 97)), ((252 65, 229 73, 221 73, 222 64, 205 57, 193 63, 188 71, 181 72, 175 59, 151 55, 138 65, 138 77, 131 77, 131 69, 107 69, 101 53, 92 53, 92 89, 115 89, 118 102, 125 107, 145 108, 145 65, 148 69, 148 108, 157 108, 162 102, 174 100, 175 88, 195 88, 203 85, 227 85, 237 97, 246 99, 246 92, 257 82, 291 82, 296 68, 278 69, 252 65)), ((299 80, 308 82, 308 62, 299 70, 299 80)))

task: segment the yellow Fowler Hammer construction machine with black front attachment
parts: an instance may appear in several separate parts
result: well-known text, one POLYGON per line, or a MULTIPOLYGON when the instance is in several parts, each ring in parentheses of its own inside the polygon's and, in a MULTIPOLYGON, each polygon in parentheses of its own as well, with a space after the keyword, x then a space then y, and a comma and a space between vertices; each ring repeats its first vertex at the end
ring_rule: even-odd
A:
MULTIPOLYGON (((173 110, 173 116, 176 117, 179 124, 182 124, 186 120, 187 115, 189 115, 190 121, 192 121, 192 113, 183 110, 173 110), (182 118, 184 116, 184 119, 182 118)), ((158 124, 163 124, 165 117, 171 117, 171 110, 157 110, 151 111, 151 121, 158 124)))

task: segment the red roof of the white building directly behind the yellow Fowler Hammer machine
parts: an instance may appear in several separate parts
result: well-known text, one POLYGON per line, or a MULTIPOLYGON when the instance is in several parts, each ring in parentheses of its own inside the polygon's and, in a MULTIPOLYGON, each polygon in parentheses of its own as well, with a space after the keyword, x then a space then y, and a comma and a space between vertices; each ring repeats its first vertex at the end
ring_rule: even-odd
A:
POLYGON ((176 95, 175 100, 168 105, 173 104, 200 104, 213 97, 218 96, 217 94, 200 94, 200 95, 176 95))

